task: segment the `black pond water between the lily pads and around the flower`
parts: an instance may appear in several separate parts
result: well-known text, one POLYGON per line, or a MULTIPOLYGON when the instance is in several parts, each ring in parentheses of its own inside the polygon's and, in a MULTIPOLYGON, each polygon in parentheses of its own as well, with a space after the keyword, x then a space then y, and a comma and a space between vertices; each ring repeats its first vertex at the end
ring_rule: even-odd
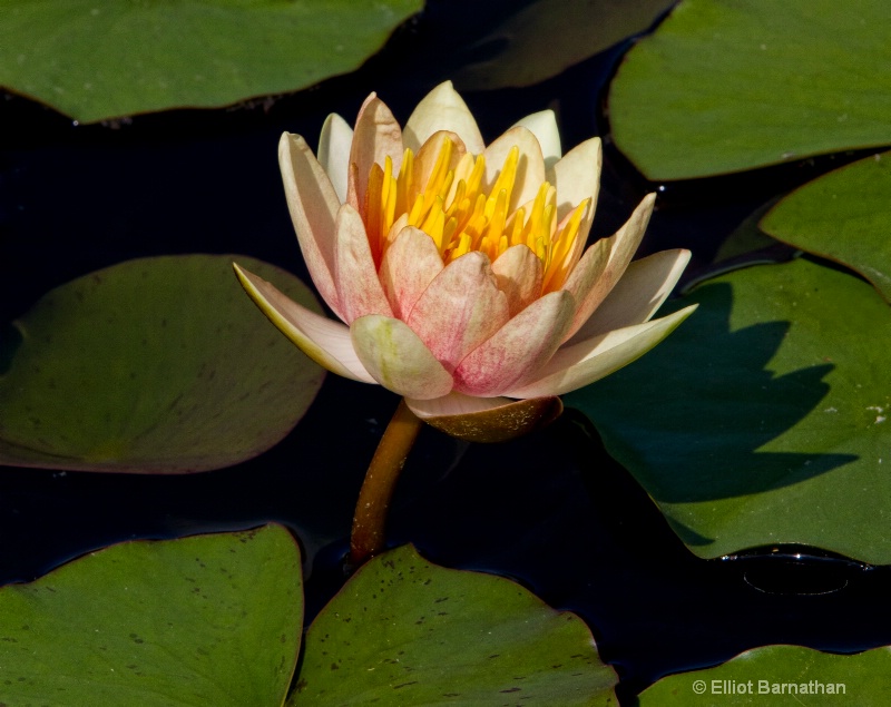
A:
MULTIPOLYGON (((300 132, 314 145, 329 112, 352 121, 372 90, 404 121, 456 62, 476 56, 453 51, 454 37, 470 46, 509 6, 431 2, 359 71, 231 109, 76 126, 3 95, 0 322, 56 285, 146 255, 243 253, 309 282, 280 181, 280 134, 300 132), (476 29, 463 26, 471 11, 476 29)), ((606 166, 594 237, 611 234, 644 194, 658 189, 643 252, 688 247, 688 275, 695 276, 707 272, 722 240, 756 207, 850 158, 647 184, 609 139, 606 86, 628 46, 532 87, 462 92, 487 141, 545 108, 557 111, 567 148, 603 136, 606 166)), ((685 326, 695 326, 695 317, 685 326)), ((78 404, 59 402, 72 410, 78 404)), ((125 539, 278 521, 303 544, 311 618, 343 581, 340 558, 352 504, 396 402, 380 387, 330 375, 280 445, 237 467, 190 477, 3 469, 0 582, 31 580, 125 539)), ((795 557, 819 556, 806 548, 695 558, 606 455, 590 423, 571 410, 547 430, 499 445, 467 445, 424 430, 398 489, 391 540, 414 542, 448 567, 507 575, 551 606, 581 615, 623 680, 623 704, 667 672, 714 665, 756 646, 848 652, 891 644, 888 569, 795 557)))

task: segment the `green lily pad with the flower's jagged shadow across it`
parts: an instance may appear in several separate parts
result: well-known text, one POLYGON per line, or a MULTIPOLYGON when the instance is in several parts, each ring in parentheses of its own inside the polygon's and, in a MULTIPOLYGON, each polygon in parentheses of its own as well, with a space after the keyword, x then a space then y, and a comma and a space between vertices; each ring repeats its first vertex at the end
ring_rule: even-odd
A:
POLYGON ((891 308, 799 259, 696 287, 687 326, 565 396, 701 557, 803 543, 891 562, 891 308))

